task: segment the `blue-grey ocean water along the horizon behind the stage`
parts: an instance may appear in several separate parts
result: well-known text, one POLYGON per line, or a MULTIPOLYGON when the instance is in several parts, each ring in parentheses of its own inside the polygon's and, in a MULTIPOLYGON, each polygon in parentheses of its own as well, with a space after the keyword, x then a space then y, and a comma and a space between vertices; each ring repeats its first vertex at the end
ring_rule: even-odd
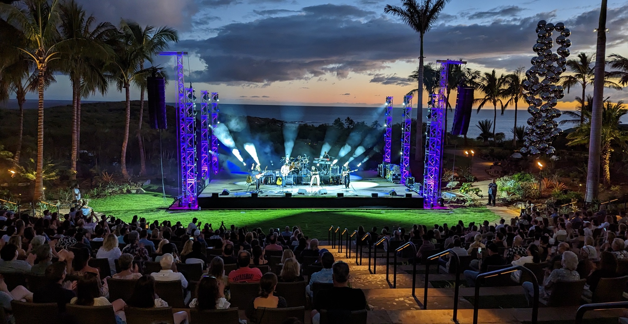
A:
MULTIPOLYGON (((89 103, 90 101, 82 101, 83 103, 89 103)), ((68 105, 72 104, 70 100, 46 100, 45 107, 54 107, 56 105, 68 105)), ((168 103, 174 105, 174 103, 168 103)), ((25 109, 36 109, 36 100, 28 100, 24 104, 25 109)), ((7 102, 0 102, 0 108, 17 109, 17 103, 15 100, 8 100, 7 102)), ((331 124, 336 118, 340 117, 342 121, 346 117, 350 117, 355 122, 364 121, 367 124, 371 124, 373 121, 379 121, 380 124, 384 124, 384 106, 381 107, 333 107, 333 106, 302 106, 302 105, 244 105, 244 104, 220 104, 220 113, 224 115, 234 116, 254 116, 264 118, 276 118, 286 122, 300 122, 308 124, 331 124)), ((528 105, 521 102, 521 107, 517 111, 517 125, 527 126, 526 121, 530 116, 527 111, 528 105)), ((467 136, 469 138, 476 138, 480 134, 480 130, 477 127, 479 121, 484 119, 493 120, 493 109, 484 107, 479 112, 477 109, 471 114, 471 120, 467 136)), ((393 109, 393 123, 398 124, 402 122, 403 109, 401 106, 394 107, 393 109)), ((413 109, 413 118, 416 118, 416 108, 413 109)), ((427 116, 427 109, 423 109, 423 121, 425 122, 425 116, 427 116)), ((501 114, 499 108, 497 109, 497 122, 495 125, 495 132, 504 132, 506 138, 512 138, 512 127, 514 127, 515 112, 514 109, 507 109, 504 114, 501 114)), ((561 116, 557 121, 561 121, 566 118, 561 116)), ((628 123, 628 116, 622 118, 623 123, 628 123)), ((448 127, 452 129, 453 124, 453 112, 448 111, 448 127)), ((568 129, 572 126, 564 125, 559 126, 563 129, 568 129)))

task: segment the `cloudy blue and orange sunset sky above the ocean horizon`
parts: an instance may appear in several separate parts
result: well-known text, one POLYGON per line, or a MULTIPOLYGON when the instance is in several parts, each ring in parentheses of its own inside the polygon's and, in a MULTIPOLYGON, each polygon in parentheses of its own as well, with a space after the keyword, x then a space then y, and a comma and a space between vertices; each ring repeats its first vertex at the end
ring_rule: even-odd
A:
MULTIPOLYGON (((170 49, 190 53, 186 82, 217 91, 228 103, 374 105, 413 89, 407 76, 418 65, 418 34, 383 13, 400 0, 78 2, 99 20, 178 28, 181 41, 170 49)), ((462 58, 469 67, 498 73, 529 68, 539 19, 571 29, 572 56, 593 53, 599 2, 452 0, 425 36, 426 62, 462 58)), ((607 26, 607 53, 628 55, 628 1, 609 0, 607 26)), ((173 68, 175 61, 162 57, 156 64, 173 68)), ((58 80, 46 97, 70 99, 67 80, 58 80)), ((174 101, 173 85, 168 93, 174 101)), ((559 107, 573 107, 578 93, 559 107)), ((628 90, 607 94, 628 99, 628 90)), ((104 98, 123 99, 115 90, 104 98)))

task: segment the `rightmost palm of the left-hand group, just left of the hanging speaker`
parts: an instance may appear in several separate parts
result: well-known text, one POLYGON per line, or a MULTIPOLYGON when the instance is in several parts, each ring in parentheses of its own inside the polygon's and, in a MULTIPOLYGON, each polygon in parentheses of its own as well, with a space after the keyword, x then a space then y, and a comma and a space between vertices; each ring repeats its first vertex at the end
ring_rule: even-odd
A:
MULTIPOLYGON (((168 42, 179 41, 179 36, 174 28, 163 26, 156 28, 155 26, 146 26, 142 28, 138 23, 131 23, 128 21, 122 21, 121 30, 124 32, 125 37, 129 40, 134 50, 138 51, 143 59, 139 61, 139 70, 144 70, 144 61, 153 63, 153 57, 160 51, 168 48, 168 42)), ((142 119, 144 116, 144 89, 146 89, 146 77, 142 77, 145 74, 139 74, 134 79, 134 84, 140 89, 139 92, 139 124, 136 137, 138 138, 139 148, 139 174, 146 174, 146 154, 144 154, 144 141, 142 139, 142 119)))

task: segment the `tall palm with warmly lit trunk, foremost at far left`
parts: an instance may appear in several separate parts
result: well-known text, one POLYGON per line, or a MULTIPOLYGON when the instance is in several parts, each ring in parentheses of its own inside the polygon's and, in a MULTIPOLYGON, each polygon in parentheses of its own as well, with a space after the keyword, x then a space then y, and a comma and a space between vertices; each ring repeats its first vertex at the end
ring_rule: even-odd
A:
POLYGON ((35 190, 33 199, 43 197, 43 90, 45 76, 50 63, 60 58, 58 48, 65 40, 61 40, 57 26, 59 22, 58 0, 25 0, 14 5, 3 4, 7 21, 24 35, 26 46, 19 48, 28 60, 35 63, 37 72, 37 92, 39 103, 37 108, 37 163, 35 190))

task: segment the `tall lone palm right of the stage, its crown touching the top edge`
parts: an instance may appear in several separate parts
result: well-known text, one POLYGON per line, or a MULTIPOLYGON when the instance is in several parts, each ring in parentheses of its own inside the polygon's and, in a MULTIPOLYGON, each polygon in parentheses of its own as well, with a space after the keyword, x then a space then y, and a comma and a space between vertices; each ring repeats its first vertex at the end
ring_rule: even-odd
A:
MULTIPOLYGON (((384 13, 393 14, 398 16, 401 20, 408 24, 414 31, 419 33, 421 50, 419 55, 419 71, 418 71, 418 87, 417 89, 423 89, 423 36, 430 31, 432 26, 436 23, 436 19, 440 12, 445 8, 450 0, 403 0, 401 7, 391 6, 386 4, 384 7, 384 13)), ((418 91, 416 96, 416 150, 414 152, 414 159, 416 161, 423 161, 423 91, 418 91)))

